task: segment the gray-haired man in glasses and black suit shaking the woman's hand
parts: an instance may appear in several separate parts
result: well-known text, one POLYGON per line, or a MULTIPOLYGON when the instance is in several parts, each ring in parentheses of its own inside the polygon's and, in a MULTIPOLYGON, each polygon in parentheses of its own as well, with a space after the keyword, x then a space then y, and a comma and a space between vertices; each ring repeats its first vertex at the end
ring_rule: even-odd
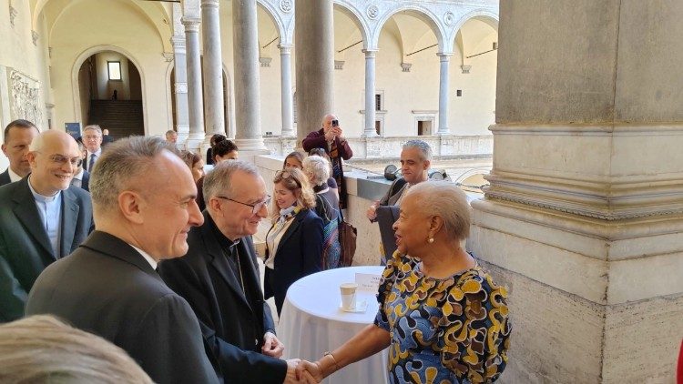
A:
POLYGON ((251 235, 268 217, 270 196, 256 167, 220 162, 204 177, 204 225, 189 232, 184 258, 159 272, 187 299, 223 376, 239 383, 295 382, 298 360, 279 359, 270 306, 263 299, 251 235))

